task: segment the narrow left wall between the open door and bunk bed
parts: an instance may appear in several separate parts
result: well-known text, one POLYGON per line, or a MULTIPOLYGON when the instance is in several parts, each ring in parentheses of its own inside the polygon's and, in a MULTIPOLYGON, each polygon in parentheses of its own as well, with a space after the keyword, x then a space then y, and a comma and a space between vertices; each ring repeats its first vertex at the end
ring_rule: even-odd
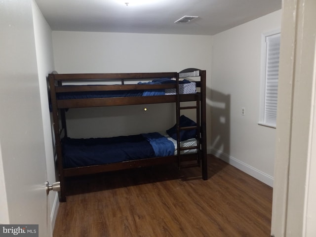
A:
MULTIPOLYGON (((32 9, 35 48, 39 72, 40 104, 43 120, 47 180, 49 181, 49 183, 54 183, 56 182, 55 162, 46 83, 47 75, 54 70, 52 31, 34 1, 32 9)), ((54 227, 59 204, 58 193, 50 192, 48 195, 48 200, 50 205, 49 213, 52 221, 52 227, 54 227)))

